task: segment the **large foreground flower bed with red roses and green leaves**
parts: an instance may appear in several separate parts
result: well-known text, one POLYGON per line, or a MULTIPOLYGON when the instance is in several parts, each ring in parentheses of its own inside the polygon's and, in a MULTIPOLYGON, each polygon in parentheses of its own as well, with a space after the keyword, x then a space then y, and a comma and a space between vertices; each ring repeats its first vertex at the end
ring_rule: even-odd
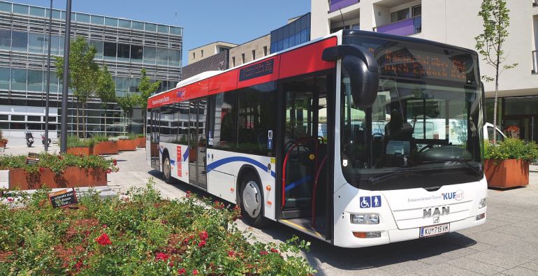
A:
MULTIPOLYGON (((0 205, 0 271, 13 275, 313 275, 293 238, 249 242, 238 208, 187 194, 165 201, 148 184, 130 199, 80 198, 52 209, 46 191, 24 208, 0 205), (212 206, 212 208, 210 208, 212 206), (295 244, 295 245, 294 245, 295 244)), ((13 203, 14 205, 17 203, 13 203)))

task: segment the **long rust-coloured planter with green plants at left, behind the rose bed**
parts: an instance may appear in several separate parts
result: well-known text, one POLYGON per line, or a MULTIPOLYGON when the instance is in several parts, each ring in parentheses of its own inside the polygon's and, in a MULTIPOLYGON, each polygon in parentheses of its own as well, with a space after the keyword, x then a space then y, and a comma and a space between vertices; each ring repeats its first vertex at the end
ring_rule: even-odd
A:
POLYGON ((26 164, 24 156, 0 157, 0 168, 9 170, 9 189, 106 186, 115 165, 115 160, 73 154, 39 154, 37 164, 26 164))

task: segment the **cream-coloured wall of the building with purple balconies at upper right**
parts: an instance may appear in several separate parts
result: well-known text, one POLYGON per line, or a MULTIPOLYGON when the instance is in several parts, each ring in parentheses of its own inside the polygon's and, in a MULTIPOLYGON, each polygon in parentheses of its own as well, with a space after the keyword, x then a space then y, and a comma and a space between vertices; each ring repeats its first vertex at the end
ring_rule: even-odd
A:
MULTIPOLYGON (((347 15, 355 14, 360 18, 361 30, 372 31, 380 24, 390 22, 390 13, 407 6, 422 5, 422 31, 411 36, 439 41, 474 50, 474 37, 482 31, 482 19, 478 16, 479 0, 361 0, 359 3, 342 8, 345 20, 347 15), (360 15, 356 14, 360 10, 360 15)), ((538 7, 530 0, 509 0, 510 10, 509 37, 504 44, 507 55, 506 64, 518 66, 505 71, 500 79, 500 96, 522 96, 538 94, 538 74, 532 74, 532 50, 538 48, 538 7)), ((340 11, 328 13, 326 0, 312 0, 311 39, 329 34, 330 20, 341 17, 340 11)), ((348 16, 349 17, 349 16, 348 16)), ((480 61, 481 75, 494 76, 492 66, 480 61)), ((486 96, 493 96, 495 84, 486 83, 486 96)))

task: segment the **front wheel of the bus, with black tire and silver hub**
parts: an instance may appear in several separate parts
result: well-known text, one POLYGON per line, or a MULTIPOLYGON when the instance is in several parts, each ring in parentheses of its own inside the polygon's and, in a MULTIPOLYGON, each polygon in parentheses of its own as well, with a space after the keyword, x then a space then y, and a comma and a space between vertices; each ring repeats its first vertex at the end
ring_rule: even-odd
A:
POLYGON ((263 189, 254 173, 247 173, 241 179, 239 193, 241 215, 247 224, 256 228, 267 226, 268 221, 263 217, 263 189))

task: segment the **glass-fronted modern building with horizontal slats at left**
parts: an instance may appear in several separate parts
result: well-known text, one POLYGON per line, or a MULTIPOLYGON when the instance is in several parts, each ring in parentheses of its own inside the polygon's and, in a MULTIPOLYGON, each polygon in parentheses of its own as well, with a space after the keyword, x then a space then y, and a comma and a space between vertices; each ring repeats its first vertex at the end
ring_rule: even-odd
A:
MULTIPOLYGON (((24 145, 24 129, 38 138, 45 129, 47 87, 48 8, 0 1, 0 128, 10 145, 24 145)), ((54 66, 54 56, 64 55, 64 10, 52 10, 53 55, 50 73, 50 136, 59 131, 62 84, 54 66)), ((182 28, 124 18, 71 14, 71 38, 82 36, 96 47, 96 61, 106 64, 116 83, 117 96, 137 93, 140 71, 161 81, 160 91, 175 87, 181 76, 182 28)), ((71 92, 70 92, 71 94, 71 92)), ((68 131, 75 132, 76 100, 69 99, 68 131)), ((108 133, 120 132, 122 111, 108 104, 108 133)), ((90 133, 103 133, 105 112, 99 99, 87 104, 90 133)), ((129 128, 141 131, 140 110, 134 110, 129 128)))

